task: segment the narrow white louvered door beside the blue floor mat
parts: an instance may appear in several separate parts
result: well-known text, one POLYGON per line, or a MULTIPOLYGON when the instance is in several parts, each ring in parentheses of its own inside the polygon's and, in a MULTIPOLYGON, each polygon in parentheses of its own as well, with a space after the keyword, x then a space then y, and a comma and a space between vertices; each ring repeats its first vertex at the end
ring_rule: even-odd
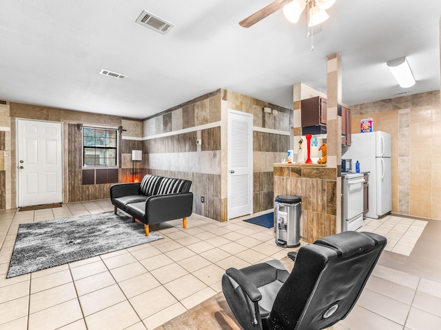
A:
POLYGON ((228 111, 228 219, 253 212, 253 115, 228 111))

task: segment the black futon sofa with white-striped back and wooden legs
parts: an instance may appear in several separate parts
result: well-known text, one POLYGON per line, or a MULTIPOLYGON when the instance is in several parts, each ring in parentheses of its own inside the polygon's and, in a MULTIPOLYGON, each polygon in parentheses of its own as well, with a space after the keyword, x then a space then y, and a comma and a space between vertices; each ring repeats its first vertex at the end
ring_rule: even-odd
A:
POLYGON ((189 192, 192 181, 145 175, 141 183, 114 184, 110 187, 110 200, 115 206, 130 214, 133 220, 144 223, 145 236, 149 225, 187 217, 193 210, 193 193, 189 192))

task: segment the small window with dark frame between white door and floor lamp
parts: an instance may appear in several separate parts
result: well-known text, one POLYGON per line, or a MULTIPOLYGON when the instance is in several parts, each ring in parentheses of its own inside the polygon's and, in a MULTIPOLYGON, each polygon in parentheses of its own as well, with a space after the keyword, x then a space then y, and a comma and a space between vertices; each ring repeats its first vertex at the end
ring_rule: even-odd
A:
POLYGON ((116 167, 118 130, 83 128, 83 166, 116 167))

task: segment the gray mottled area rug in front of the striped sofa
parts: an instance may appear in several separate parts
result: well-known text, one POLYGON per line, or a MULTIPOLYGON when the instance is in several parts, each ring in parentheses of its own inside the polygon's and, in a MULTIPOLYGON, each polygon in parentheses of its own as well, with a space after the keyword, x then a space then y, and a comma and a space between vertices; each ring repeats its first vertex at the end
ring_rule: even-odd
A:
POLYGON ((95 213, 19 226, 6 278, 163 239, 126 214, 95 213))

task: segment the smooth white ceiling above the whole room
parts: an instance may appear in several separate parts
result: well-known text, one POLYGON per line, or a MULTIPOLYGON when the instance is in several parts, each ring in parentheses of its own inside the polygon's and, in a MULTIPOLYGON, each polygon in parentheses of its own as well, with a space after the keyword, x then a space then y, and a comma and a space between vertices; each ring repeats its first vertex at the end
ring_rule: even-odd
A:
POLYGON ((142 119, 222 87, 292 109, 294 84, 326 92, 335 52, 345 104, 440 89, 440 0, 337 0, 314 52, 305 17, 238 25, 271 1, 0 0, 0 100, 142 119), (135 23, 143 10, 174 28, 135 23), (409 89, 385 64, 400 56, 409 89))

